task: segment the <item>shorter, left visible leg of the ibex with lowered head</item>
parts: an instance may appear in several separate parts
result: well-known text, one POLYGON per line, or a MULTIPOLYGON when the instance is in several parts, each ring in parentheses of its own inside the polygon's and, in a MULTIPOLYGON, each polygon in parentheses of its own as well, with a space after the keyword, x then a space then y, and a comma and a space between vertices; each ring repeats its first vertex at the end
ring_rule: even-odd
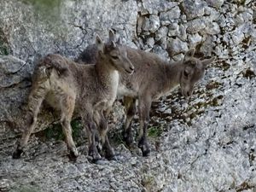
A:
POLYGON ((131 135, 131 121, 136 113, 136 99, 129 96, 124 96, 124 102, 126 119, 123 137, 125 139, 125 144, 128 147, 131 147, 131 144, 133 143, 133 137, 131 135))

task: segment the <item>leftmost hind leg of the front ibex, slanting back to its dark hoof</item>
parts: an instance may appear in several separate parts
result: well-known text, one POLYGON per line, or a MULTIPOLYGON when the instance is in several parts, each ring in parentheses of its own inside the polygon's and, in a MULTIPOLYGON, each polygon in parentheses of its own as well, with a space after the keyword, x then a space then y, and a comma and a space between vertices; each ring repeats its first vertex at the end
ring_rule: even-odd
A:
POLYGON ((32 92, 30 93, 30 96, 28 97, 28 108, 26 112, 26 118, 24 120, 23 127, 25 128, 25 131, 22 134, 22 137, 20 138, 20 141, 17 143, 17 147, 15 149, 15 152, 13 153, 14 159, 19 159, 20 154, 24 151, 24 148, 26 147, 26 144, 29 140, 29 137, 32 134, 32 131, 35 128, 35 125, 37 123, 38 118, 38 112, 40 109, 40 106, 42 105, 42 102, 44 101, 44 97, 46 95, 46 89, 44 86, 40 86, 37 89, 32 89, 32 92))

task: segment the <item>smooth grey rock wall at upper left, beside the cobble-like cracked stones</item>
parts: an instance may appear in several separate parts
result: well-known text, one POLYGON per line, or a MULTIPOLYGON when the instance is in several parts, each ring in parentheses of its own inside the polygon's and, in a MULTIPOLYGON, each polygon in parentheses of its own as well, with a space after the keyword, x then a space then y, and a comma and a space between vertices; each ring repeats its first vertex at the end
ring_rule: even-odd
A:
MULTIPOLYGON (((57 2, 50 6, 44 2, 32 4, 13 0, 0 3, 0 34, 8 43, 8 47, 4 44, 8 51, 0 53, 12 53, 0 55, 3 69, 0 72, 1 129, 21 128, 31 74, 39 58, 49 53, 76 57, 87 44, 94 42, 95 32, 106 38, 110 27, 121 32, 125 39, 134 35, 137 23, 137 3, 134 1, 57 2), (112 9, 119 12, 114 13, 112 9)), ((47 116, 43 118, 44 126, 53 121, 50 113, 43 116, 47 116)), ((42 130, 43 125, 39 122, 36 131, 42 130)))

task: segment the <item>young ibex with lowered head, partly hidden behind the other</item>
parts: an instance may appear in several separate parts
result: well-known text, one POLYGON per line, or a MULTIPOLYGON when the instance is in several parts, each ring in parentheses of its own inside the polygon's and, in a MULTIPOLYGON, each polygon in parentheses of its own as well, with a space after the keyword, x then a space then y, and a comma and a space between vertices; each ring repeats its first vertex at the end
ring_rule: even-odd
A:
MULTIPOLYGON (((109 32, 109 40, 114 41, 113 31, 109 32)), ((136 100, 138 100, 138 113, 140 119, 140 134, 138 147, 142 149, 143 156, 150 153, 147 142, 147 127, 151 103, 160 96, 167 95, 179 84, 183 96, 191 96, 194 85, 203 78, 208 64, 214 61, 214 57, 199 60, 194 57, 195 49, 190 49, 183 61, 169 63, 163 61, 158 55, 148 53, 140 49, 131 49, 122 46, 127 52, 128 58, 135 67, 131 76, 120 74, 118 96, 124 96, 125 102, 125 143, 129 146, 133 143, 131 136, 131 120, 136 113, 136 100)), ((90 45, 79 56, 78 61, 96 61, 95 45, 90 45)))

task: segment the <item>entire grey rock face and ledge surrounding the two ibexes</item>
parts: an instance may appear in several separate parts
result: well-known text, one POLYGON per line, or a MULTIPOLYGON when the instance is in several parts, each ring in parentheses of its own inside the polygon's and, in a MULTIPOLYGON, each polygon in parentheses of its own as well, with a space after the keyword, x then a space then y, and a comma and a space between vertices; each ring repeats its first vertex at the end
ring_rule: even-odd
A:
POLYGON ((0 191, 254 192, 255 8, 254 1, 1 1, 0 191), (23 159, 12 160, 38 59, 76 58, 95 32, 107 38, 109 28, 123 44, 171 61, 192 47, 218 59, 189 101, 176 90, 153 104, 148 158, 119 139, 123 109, 117 105, 110 135, 119 160, 88 162, 82 132, 79 160, 69 162, 65 143, 42 131, 55 121, 47 108, 23 159))

